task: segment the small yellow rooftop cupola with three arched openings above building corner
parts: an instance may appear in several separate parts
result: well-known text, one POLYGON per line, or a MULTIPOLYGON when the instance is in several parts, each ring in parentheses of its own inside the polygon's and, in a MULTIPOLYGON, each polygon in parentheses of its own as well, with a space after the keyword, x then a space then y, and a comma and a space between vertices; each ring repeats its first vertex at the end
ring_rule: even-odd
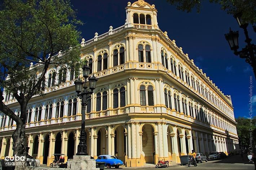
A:
POLYGON ((142 29, 159 29, 157 23, 157 10, 155 5, 150 5, 144 0, 138 0, 131 4, 127 3, 126 9, 126 23, 128 27, 142 28, 142 29))

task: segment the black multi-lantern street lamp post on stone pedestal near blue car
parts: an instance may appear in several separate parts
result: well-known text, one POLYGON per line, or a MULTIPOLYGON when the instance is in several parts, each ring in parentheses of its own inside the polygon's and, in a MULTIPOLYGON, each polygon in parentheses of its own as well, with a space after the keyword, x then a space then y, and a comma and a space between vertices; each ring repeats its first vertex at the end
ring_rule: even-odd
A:
POLYGON ((83 66, 83 77, 84 82, 80 79, 75 81, 75 90, 78 93, 78 97, 81 99, 81 105, 82 105, 82 124, 81 124, 81 132, 80 132, 80 139, 78 144, 78 152, 76 155, 88 155, 87 153, 87 145, 86 145, 86 135, 85 135, 85 109, 88 104, 88 101, 91 99, 91 95, 93 93, 93 90, 96 87, 96 82, 98 79, 93 75, 92 77, 89 77, 90 68, 85 65, 83 66), (89 77, 89 78, 88 78, 89 77), (89 81, 89 91, 85 84, 85 82, 89 81), (84 84, 84 86, 83 86, 84 84), (84 89, 83 89, 84 88, 84 89))

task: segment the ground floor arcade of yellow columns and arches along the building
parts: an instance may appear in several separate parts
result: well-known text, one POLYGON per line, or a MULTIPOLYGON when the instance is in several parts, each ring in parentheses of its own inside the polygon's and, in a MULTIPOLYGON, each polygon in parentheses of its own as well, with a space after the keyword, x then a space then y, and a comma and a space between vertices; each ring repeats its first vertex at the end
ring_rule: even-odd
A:
MULTIPOLYGON (((65 154, 65 161, 77 152, 79 129, 58 129, 27 135, 29 155, 49 164, 54 153, 65 154)), ((180 162, 180 155, 196 152, 233 152, 238 140, 224 134, 207 132, 193 127, 180 127, 164 122, 132 122, 86 128, 88 155, 115 155, 126 166, 155 164, 160 159, 180 162)), ((0 139, 0 157, 12 156, 11 137, 0 139)))

